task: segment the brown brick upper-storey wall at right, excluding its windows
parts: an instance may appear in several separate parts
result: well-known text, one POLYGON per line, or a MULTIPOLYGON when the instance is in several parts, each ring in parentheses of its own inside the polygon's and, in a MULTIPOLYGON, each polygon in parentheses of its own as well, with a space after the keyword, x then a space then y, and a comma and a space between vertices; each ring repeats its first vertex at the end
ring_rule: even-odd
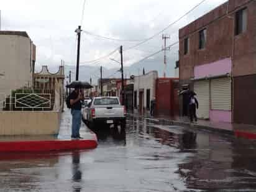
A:
POLYGON ((233 54, 234 76, 256 73, 256 1, 230 0, 229 4, 222 4, 180 29, 179 37, 181 82, 194 77, 194 66, 230 58, 233 54), (235 11, 243 7, 248 9, 247 31, 234 36, 235 11), (199 50, 199 30, 204 28, 207 30, 206 47, 199 50), (190 48, 189 53, 184 55, 186 37, 190 38, 190 48))

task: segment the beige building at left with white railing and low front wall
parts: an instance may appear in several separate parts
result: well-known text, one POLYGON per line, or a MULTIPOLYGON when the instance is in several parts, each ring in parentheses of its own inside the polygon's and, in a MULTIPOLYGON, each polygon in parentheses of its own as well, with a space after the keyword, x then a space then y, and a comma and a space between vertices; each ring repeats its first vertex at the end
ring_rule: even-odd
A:
POLYGON ((0 135, 57 135, 64 66, 34 73, 35 45, 26 32, 0 31, 0 135))

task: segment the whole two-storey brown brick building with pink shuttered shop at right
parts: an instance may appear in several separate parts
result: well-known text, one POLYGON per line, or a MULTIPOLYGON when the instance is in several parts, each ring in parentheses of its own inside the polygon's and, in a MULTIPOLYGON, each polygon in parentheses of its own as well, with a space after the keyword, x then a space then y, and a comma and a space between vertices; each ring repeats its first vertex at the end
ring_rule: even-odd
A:
POLYGON ((255 12, 229 0, 180 29, 180 88, 194 89, 201 119, 256 124, 255 12))

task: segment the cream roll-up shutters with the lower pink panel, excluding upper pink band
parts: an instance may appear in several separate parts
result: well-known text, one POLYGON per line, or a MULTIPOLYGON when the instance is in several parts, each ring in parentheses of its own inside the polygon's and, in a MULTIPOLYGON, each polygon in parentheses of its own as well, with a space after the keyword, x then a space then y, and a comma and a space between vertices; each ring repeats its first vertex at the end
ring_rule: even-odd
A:
POLYGON ((195 80, 194 92, 199 102, 199 119, 231 122, 232 94, 231 78, 227 75, 212 77, 209 80, 195 80))

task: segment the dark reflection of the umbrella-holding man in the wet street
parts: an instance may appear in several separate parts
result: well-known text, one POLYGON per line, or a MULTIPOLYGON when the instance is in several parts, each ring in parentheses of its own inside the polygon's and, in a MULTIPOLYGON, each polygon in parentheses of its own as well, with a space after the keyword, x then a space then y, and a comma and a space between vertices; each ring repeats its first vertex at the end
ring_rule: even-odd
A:
MULTIPOLYGON (((78 150, 72 152, 72 166, 72 180, 75 182, 80 182, 83 174, 80 169, 80 151, 78 150)), ((73 189, 75 192, 80 192, 81 186, 73 186, 73 189)))

